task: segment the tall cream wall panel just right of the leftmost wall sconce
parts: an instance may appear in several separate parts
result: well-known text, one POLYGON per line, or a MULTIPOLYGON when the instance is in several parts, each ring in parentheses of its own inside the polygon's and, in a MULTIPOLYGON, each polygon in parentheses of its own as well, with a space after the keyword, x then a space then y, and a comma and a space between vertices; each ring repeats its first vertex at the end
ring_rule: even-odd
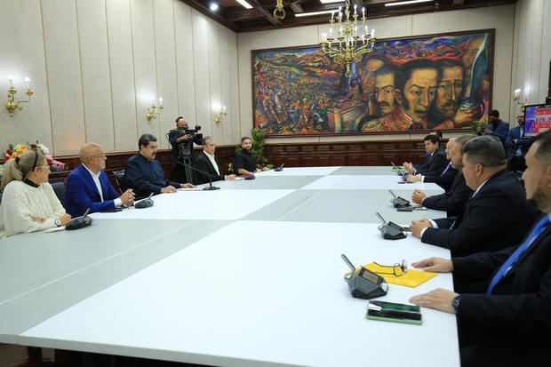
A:
POLYGON ((42 15, 54 152, 75 154, 86 141, 75 0, 43 1, 42 15))

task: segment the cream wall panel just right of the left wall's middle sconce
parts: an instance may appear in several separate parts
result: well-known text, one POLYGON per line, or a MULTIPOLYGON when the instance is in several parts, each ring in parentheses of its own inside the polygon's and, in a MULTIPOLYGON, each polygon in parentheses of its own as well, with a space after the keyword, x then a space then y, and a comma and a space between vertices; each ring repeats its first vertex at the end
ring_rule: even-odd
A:
POLYGON ((163 114, 158 117, 160 136, 157 144, 169 148, 166 133, 174 128, 178 116, 176 85, 176 51, 172 0, 155 0, 156 71, 159 97, 163 97, 163 114))

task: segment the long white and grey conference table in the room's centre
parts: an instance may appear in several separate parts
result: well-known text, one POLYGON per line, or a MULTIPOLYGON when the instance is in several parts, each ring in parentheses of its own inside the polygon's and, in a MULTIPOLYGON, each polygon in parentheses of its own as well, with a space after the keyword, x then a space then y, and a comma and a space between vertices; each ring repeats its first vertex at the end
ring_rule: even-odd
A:
MULTIPOLYGON (((92 214, 91 227, 0 241, 0 342, 228 366, 459 366, 456 318, 365 319, 343 275, 450 251, 381 238, 374 215, 407 224, 442 211, 397 212, 434 184, 397 184, 389 167, 285 168, 216 191, 157 195, 144 210, 92 214), (407 361, 407 362, 405 362, 407 361)), ((380 298, 452 289, 451 275, 380 298)))

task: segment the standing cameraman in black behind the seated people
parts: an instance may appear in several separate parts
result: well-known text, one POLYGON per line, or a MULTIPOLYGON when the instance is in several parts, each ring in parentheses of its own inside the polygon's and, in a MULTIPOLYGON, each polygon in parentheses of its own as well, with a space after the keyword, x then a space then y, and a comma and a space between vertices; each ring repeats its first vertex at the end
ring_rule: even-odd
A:
POLYGON ((188 123, 184 117, 176 119, 176 129, 168 133, 172 145, 172 180, 193 183, 191 169, 185 165, 194 164, 193 137, 188 133, 188 123))

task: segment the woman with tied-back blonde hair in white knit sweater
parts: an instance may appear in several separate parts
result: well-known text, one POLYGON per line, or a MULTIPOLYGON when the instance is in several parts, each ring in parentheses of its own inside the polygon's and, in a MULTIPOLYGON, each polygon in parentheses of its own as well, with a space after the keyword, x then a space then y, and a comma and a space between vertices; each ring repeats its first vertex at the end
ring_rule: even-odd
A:
POLYGON ((68 224, 71 216, 48 183, 50 166, 38 151, 30 151, 4 164, 0 238, 68 224))

